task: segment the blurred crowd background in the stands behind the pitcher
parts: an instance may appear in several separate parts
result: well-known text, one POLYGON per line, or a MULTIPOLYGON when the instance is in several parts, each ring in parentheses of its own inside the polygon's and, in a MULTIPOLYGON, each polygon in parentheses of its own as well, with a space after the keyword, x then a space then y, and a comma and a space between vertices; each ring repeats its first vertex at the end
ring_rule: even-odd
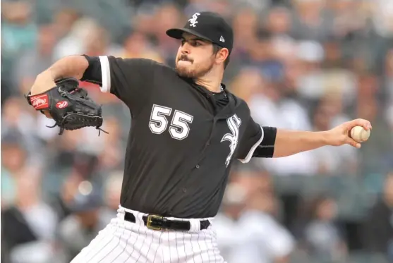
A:
MULTIPOLYGON (((215 226, 229 263, 393 262, 392 0, 1 1, 1 262, 69 262, 116 214, 130 116, 59 136, 23 94, 70 54, 174 65, 165 35, 195 11, 233 25, 224 82, 264 126, 373 123, 361 149, 234 165, 215 226)), ((143 87, 140 87, 143 89, 143 87)))

